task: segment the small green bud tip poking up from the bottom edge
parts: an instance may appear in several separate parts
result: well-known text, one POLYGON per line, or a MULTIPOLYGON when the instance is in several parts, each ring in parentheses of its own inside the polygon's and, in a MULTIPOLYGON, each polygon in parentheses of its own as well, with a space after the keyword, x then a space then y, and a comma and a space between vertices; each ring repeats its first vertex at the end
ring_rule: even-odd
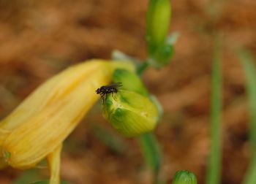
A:
POLYGON ((178 171, 173 177, 173 184, 197 184, 197 177, 187 170, 178 171))

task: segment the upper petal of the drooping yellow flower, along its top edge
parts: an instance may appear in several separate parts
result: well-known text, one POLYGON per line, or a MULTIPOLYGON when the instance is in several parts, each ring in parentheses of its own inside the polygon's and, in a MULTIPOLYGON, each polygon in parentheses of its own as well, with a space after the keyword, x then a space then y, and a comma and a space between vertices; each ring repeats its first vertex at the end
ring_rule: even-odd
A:
MULTIPOLYGON (((135 70, 134 66, 129 62, 110 62, 96 59, 71 66, 40 85, 7 118, 1 120, 0 129, 6 131, 17 128, 17 126, 20 126, 20 124, 37 114, 43 108, 67 96, 70 91, 80 85, 81 81, 93 74, 97 69, 102 69, 102 67, 105 67, 102 72, 108 76, 105 79, 105 81, 108 81, 107 83, 109 83, 113 69, 124 68, 135 70)), ((94 80, 91 83, 94 83, 95 88, 97 85, 101 85, 94 82, 94 80)))

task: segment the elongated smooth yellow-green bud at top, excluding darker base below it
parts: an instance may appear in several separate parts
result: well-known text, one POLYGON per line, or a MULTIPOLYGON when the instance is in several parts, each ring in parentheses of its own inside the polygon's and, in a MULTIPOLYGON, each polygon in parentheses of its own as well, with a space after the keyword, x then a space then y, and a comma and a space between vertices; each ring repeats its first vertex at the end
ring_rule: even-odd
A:
POLYGON ((146 22, 146 41, 149 50, 154 49, 154 45, 162 45, 167 37, 170 25, 170 0, 151 0, 148 4, 146 22))

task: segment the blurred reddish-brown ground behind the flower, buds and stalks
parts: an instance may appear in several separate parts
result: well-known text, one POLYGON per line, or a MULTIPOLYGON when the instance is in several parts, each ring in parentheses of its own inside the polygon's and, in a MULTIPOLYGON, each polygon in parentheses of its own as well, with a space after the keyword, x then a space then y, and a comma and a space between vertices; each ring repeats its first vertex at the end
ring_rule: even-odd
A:
MULTIPOLYGON (((256 1, 173 0, 170 31, 181 36, 164 69, 143 80, 165 114, 156 129, 162 147, 161 177, 179 169, 204 183, 209 155, 210 75, 213 33, 222 32, 222 183, 238 184, 249 163, 248 104, 244 72, 234 46, 256 56, 256 1)), ((0 0, 0 118, 37 86, 72 64, 110 58, 114 49, 146 58, 148 0, 0 0)), ((119 136, 102 118, 100 102, 64 142, 61 178, 70 183, 152 181, 138 140, 119 136)), ((48 179, 47 169, 0 172, 0 183, 48 179)))

